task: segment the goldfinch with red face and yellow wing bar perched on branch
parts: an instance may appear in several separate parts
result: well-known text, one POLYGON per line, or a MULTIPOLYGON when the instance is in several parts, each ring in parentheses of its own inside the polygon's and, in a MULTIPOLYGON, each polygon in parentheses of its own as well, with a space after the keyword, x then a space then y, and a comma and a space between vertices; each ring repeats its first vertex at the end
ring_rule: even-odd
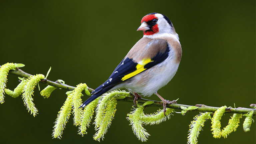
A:
POLYGON ((160 13, 150 13, 141 20, 137 31, 143 31, 143 37, 130 49, 124 59, 115 68, 107 81, 96 88, 80 108, 104 93, 126 88, 134 93, 134 103, 142 96, 157 95, 166 104, 176 103, 164 99, 157 91, 176 74, 182 49, 179 36, 170 19, 160 13))

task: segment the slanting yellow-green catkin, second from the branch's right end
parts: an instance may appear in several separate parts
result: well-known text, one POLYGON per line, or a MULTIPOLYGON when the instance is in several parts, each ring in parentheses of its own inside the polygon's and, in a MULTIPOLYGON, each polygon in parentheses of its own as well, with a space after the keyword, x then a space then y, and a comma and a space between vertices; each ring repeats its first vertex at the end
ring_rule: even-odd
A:
POLYGON ((231 132, 235 132, 236 128, 239 126, 240 118, 242 118, 243 114, 233 114, 231 119, 228 121, 228 125, 222 130, 221 134, 224 138, 227 138, 227 136, 231 132))

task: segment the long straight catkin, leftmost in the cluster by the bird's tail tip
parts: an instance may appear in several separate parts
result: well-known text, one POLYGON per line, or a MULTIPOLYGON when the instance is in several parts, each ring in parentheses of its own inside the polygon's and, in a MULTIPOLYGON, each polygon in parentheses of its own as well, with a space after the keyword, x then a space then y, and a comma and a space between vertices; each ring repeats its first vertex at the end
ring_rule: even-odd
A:
POLYGON ((55 121, 52 137, 61 139, 61 135, 63 134, 63 130, 68 122, 68 119, 71 115, 72 108, 72 95, 68 94, 68 97, 64 103, 64 105, 60 108, 58 112, 57 119, 55 121))

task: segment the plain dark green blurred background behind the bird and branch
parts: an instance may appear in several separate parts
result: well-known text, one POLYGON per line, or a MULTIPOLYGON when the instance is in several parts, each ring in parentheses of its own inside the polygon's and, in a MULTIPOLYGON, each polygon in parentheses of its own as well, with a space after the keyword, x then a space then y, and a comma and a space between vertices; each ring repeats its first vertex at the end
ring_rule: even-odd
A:
MULTIPOLYGON (((62 79, 72 86, 86 83, 96 88, 143 36, 136 30, 142 17, 152 12, 170 18, 183 49, 178 72, 158 91, 164 98, 218 107, 255 103, 255 0, 2 1, 0 65, 23 63, 22 70, 44 75, 51 66, 48 79, 52 81, 62 79)), ((7 88, 14 89, 18 83, 16 76, 8 76, 7 88)), ((27 112, 21 97, 6 96, 0 104, 0 143, 98 143, 92 138, 93 126, 84 137, 77 134, 73 116, 62 139, 52 139, 53 122, 66 99, 65 92, 56 89, 44 99, 35 89, 36 117, 27 112)), ((87 98, 82 97, 83 101, 87 98)), ((159 100, 155 95, 150 99, 159 100)), ((115 119, 101 143, 141 143, 126 120, 130 111, 131 103, 118 102, 115 119)), ((196 114, 175 113, 160 125, 145 126, 151 134, 147 143, 185 144, 188 125, 196 114)), ((222 117, 222 128, 230 116, 222 117)), ((241 125, 227 139, 214 139, 209 120, 199 144, 255 143, 255 123, 249 133, 243 132, 241 125)))

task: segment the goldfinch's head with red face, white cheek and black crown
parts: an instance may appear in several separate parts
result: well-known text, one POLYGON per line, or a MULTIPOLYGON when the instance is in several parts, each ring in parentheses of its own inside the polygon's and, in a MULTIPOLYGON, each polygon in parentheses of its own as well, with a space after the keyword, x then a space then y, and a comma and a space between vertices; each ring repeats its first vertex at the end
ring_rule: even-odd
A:
MULTIPOLYGON (((143 30, 144 36, 149 38, 173 34, 178 38, 170 19, 159 13, 150 13, 141 20, 141 26, 137 31, 143 30)), ((178 38, 179 39, 179 38, 178 38)))

